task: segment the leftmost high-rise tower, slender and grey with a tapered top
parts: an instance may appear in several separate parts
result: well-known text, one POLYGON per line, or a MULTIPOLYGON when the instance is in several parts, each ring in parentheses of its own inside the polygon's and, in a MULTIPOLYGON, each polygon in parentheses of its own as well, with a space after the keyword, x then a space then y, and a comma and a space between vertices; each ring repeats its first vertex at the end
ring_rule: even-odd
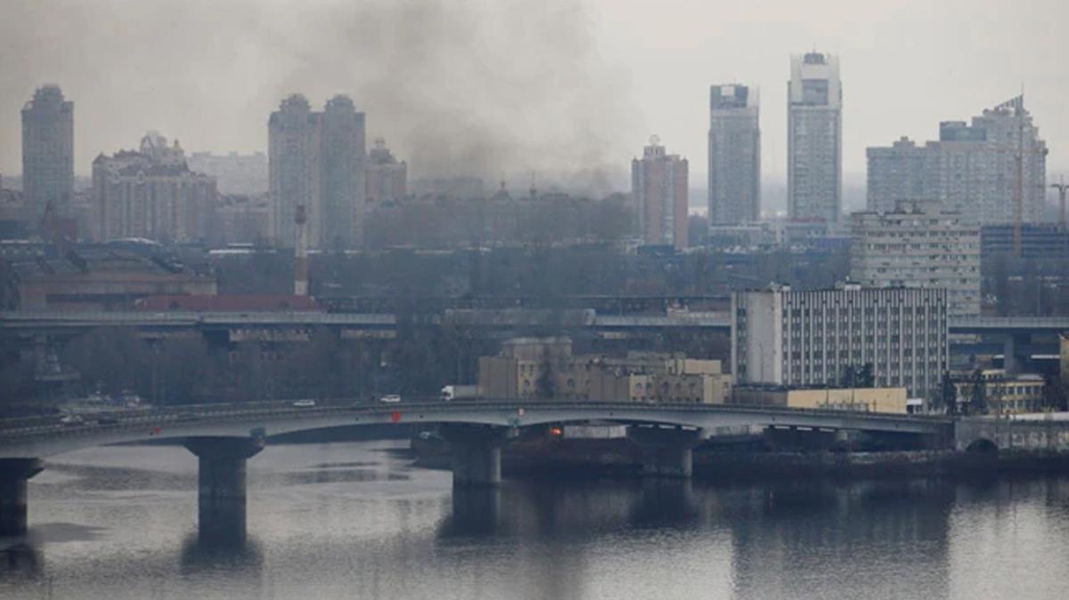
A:
POLYGON ((22 191, 40 218, 49 202, 65 215, 74 191, 74 102, 44 85, 22 107, 22 191))

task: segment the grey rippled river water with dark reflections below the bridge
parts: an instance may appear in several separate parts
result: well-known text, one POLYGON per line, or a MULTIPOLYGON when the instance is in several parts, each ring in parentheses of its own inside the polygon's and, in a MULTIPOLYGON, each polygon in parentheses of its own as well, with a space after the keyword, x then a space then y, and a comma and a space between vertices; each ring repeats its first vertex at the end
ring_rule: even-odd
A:
POLYGON ((206 512, 182 448, 58 457, 0 597, 1069 597, 1066 478, 454 491, 397 445, 269 447, 206 512))

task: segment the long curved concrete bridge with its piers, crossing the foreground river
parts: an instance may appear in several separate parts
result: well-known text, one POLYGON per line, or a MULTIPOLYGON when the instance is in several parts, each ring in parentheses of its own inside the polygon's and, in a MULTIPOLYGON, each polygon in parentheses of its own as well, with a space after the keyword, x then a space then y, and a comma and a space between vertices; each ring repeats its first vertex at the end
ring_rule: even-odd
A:
POLYGON ((453 486, 478 488, 500 483, 501 445, 520 429, 588 422, 629 425, 629 438, 642 448, 644 474, 668 477, 690 477, 693 448, 726 427, 895 432, 947 444, 952 436, 952 422, 945 417, 631 401, 250 402, 131 410, 74 426, 57 419, 9 420, 0 422, 0 537, 26 532, 27 481, 44 468, 42 459, 88 446, 181 443, 198 457, 202 527, 237 521, 244 527, 245 463, 275 436, 377 424, 437 425, 453 451, 453 486))

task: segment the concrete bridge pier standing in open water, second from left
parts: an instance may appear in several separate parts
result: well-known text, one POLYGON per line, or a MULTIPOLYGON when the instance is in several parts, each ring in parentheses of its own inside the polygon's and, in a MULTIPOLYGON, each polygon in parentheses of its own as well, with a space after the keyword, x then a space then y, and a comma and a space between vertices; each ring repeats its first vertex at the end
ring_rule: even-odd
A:
POLYGON ((197 518, 203 539, 245 538, 245 462, 264 447, 262 438, 186 438, 197 455, 197 518))

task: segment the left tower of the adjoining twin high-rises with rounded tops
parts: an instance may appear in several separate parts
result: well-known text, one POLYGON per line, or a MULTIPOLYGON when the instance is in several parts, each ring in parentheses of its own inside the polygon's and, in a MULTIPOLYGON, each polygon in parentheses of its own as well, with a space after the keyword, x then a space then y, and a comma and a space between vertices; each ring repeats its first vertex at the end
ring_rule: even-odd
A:
POLYGON ((309 238, 320 239, 320 116, 307 98, 293 94, 267 122, 272 237, 283 248, 293 248, 296 241, 293 216, 297 206, 309 215, 309 238))

